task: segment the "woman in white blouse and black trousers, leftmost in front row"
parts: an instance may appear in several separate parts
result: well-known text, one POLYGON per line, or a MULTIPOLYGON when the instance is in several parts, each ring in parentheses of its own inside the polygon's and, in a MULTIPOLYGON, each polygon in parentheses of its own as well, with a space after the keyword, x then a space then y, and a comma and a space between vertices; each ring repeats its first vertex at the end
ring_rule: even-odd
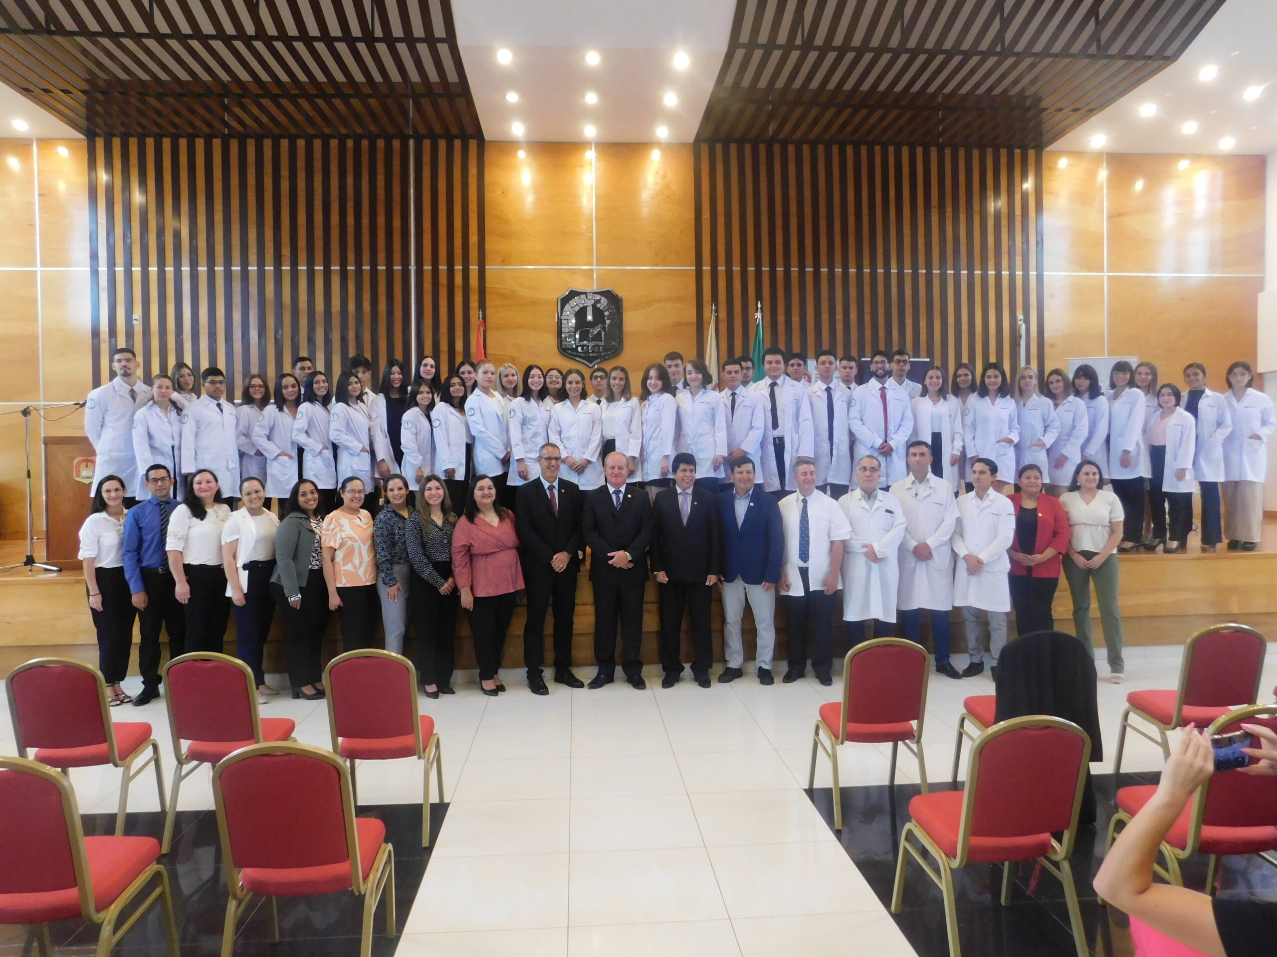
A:
POLYGON ((80 526, 79 559, 97 632, 97 667, 112 708, 133 701, 120 685, 129 674, 133 619, 138 614, 124 579, 124 481, 109 475, 98 482, 93 509, 80 526))

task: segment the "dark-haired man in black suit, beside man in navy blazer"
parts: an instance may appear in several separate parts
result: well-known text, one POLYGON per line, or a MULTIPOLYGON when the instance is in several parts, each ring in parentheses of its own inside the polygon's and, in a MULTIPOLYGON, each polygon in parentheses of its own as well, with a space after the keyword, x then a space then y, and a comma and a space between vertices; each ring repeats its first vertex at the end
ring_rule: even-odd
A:
POLYGON ((722 564, 715 493, 696 485, 696 457, 679 452, 670 463, 674 484, 651 503, 651 573, 660 596, 661 688, 673 688, 683 674, 683 609, 692 616, 692 676, 710 686, 714 635, 710 604, 722 564))

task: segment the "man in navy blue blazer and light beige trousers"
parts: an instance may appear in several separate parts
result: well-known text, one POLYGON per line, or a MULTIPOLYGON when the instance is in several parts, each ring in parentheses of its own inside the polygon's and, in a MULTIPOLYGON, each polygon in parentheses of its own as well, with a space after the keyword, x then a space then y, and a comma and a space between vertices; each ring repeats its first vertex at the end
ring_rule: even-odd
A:
POLYGON ((748 456, 728 461, 732 487, 718 495, 723 527, 723 651, 727 667, 719 681, 734 681, 744 672, 741 619, 744 602, 753 610, 757 628, 759 683, 771 684, 771 655, 776 647, 776 582, 784 555, 785 532, 775 496, 753 484, 755 462, 748 456))

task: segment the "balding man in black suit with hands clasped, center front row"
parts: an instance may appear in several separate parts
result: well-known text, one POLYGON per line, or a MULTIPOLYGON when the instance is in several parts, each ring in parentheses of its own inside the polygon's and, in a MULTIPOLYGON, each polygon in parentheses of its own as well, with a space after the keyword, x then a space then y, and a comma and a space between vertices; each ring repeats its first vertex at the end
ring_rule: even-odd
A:
POLYGON ((590 582, 594 584, 594 657, 599 674, 590 688, 612 684, 617 671, 617 623, 621 623, 622 669, 631 685, 642 680, 642 592, 647 581, 647 541, 651 507, 647 494, 626 485, 630 461, 612 452, 603 461, 607 484, 585 494, 581 527, 590 546, 590 582))

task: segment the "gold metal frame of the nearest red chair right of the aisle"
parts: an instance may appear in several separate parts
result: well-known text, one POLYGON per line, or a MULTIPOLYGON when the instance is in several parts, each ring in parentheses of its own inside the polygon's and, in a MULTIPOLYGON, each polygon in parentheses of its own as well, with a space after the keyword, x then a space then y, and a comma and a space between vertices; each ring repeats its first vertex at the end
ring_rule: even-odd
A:
MULTIPOLYGON (((927 832, 912 820, 904 826, 904 831, 900 833, 900 856, 896 859, 895 865, 895 886, 891 891, 891 912, 900 912, 904 900, 905 866, 908 865, 908 859, 912 855, 914 860, 918 861, 918 865, 927 873, 927 877, 930 877, 940 887, 941 893, 944 894, 945 925, 949 931, 950 957, 962 957, 962 946, 958 939, 958 907, 956 901, 954 900, 953 870, 955 868, 967 866, 967 852, 971 849, 972 818, 976 813, 976 786, 979 781, 979 757, 990 741, 1023 727, 1060 727, 1077 734, 1083 741, 1082 760, 1078 764, 1078 783, 1073 792, 1073 815, 1069 819, 1069 829, 1064 832, 1061 841, 1056 841, 1052 837, 1052 850, 1050 854, 1037 857, 1037 860, 1064 886, 1064 896, 1069 907, 1069 923, 1073 926, 1073 942, 1078 948, 1078 957, 1088 957, 1087 931, 1082 925, 1082 911, 1078 907, 1078 888, 1073 883, 1073 870, 1069 866, 1069 856, 1073 854, 1073 845, 1078 836, 1078 813, 1082 809, 1082 794, 1087 782, 1087 767, 1091 763, 1091 736, 1071 721, 1062 721, 1061 718, 1047 717, 1045 715, 1029 715, 1027 717, 1002 721, 1001 723, 987 729, 979 735, 979 738, 976 739, 976 743, 971 749, 971 766, 967 771, 967 783, 963 787, 962 823, 958 829, 958 855, 955 857, 945 855, 945 852, 940 850, 940 846, 931 840, 927 832), (913 835, 921 847, 916 847, 909 842, 911 835, 913 835), (939 865, 939 872, 936 868, 931 866, 923 856, 923 851, 935 859, 939 865)), ((1011 874, 1014 873, 1011 865, 1015 863, 1018 861, 1005 861, 1002 864, 1002 892, 999 901, 1004 907, 1011 901, 1011 874)))

